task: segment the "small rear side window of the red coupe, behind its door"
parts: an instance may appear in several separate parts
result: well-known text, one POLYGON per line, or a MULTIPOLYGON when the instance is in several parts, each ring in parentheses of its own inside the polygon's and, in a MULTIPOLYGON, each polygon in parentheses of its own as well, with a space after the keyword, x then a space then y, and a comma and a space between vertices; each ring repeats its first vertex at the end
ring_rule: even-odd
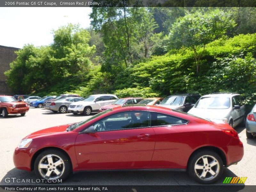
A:
POLYGON ((151 126, 164 126, 164 125, 175 125, 175 124, 185 124, 188 121, 185 119, 180 119, 178 117, 169 116, 161 113, 151 113, 151 126))

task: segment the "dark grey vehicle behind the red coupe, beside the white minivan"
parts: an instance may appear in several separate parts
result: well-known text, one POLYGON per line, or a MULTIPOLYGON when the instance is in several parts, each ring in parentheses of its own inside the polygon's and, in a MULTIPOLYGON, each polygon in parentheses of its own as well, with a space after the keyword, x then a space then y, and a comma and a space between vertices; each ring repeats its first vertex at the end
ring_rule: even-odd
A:
POLYGON ((200 95, 198 94, 176 94, 165 97, 158 106, 188 112, 188 110, 195 105, 199 98, 200 95))

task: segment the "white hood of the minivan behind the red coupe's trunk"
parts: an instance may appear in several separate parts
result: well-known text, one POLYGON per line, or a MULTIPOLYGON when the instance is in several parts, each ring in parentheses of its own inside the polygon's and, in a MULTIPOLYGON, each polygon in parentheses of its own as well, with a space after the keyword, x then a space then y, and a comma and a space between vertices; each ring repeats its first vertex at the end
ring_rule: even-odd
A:
POLYGON ((221 119, 227 117, 230 109, 204 109, 204 108, 191 108, 188 113, 207 119, 221 119))

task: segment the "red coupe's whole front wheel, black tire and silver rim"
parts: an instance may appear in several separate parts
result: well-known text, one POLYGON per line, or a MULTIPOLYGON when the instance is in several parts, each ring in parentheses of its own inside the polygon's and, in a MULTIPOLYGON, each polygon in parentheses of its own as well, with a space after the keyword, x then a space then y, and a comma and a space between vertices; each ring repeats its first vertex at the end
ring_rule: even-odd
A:
POLYGON ((38 178, 46 181, 53 179, 65 180, 72 172, 72 164, 68 155, 64 152, 57 149, 48 149, 36 157, 34 171, 38 178))

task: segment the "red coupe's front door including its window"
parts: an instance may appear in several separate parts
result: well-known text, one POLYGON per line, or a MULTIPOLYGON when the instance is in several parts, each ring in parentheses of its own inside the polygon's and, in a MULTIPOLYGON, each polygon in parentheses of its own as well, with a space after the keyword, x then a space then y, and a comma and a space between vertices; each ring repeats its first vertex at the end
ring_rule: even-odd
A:
POLYGON ((93 124, 95 133, 78 134, 75 149, 79 168, 147 167, 155 147, 155 132, 149 127, 149 116, 145 111, 117 113, 93 124), (140 117, 135 113, 140 113, 140 117))

